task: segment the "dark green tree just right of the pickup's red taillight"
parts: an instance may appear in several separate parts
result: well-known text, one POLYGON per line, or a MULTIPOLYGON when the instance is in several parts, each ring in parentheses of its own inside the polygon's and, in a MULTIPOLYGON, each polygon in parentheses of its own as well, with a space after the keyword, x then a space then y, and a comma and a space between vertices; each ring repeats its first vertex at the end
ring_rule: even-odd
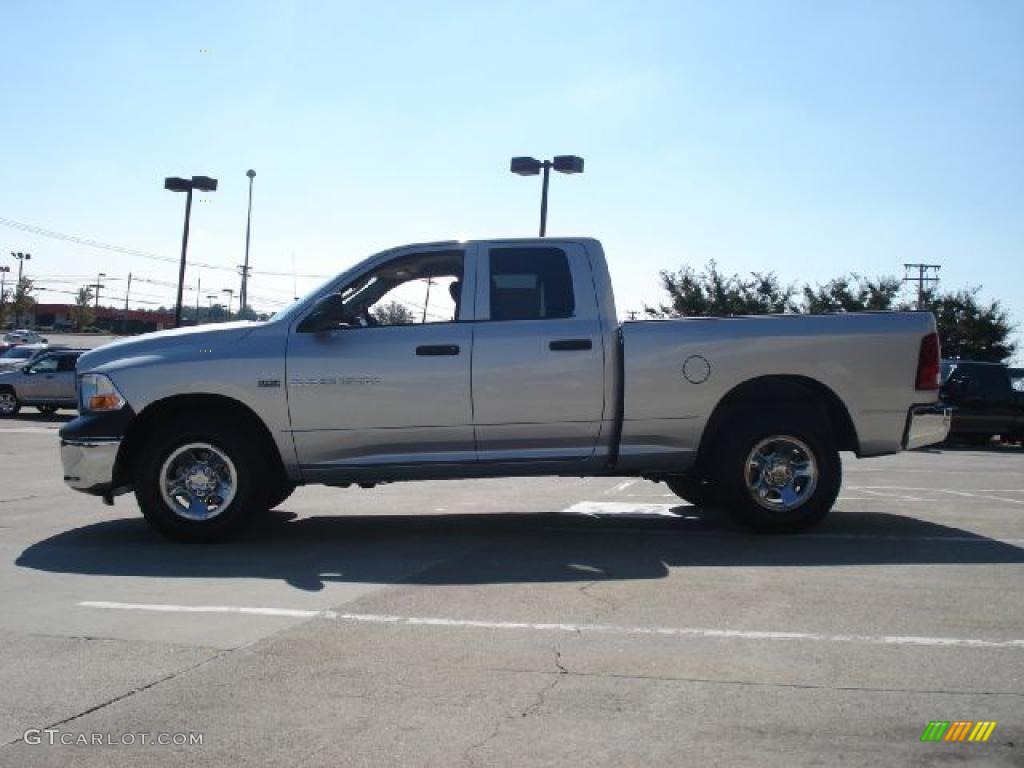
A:
POLYGON ((1013 356, 1016 330, 998 301, 979 301, 980 288, 926 294, 922 309, 935 314, 943 357, 1002 362, 1013 356))

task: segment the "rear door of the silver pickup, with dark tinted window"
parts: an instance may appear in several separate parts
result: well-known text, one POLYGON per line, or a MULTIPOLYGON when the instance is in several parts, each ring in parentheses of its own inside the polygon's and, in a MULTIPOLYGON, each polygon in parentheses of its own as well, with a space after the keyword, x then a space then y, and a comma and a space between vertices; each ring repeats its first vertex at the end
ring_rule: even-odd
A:
POLYGON ((574 244, 481 247, 473 344, 480 461, 589 458, 604 348, 590 262, 574 244))

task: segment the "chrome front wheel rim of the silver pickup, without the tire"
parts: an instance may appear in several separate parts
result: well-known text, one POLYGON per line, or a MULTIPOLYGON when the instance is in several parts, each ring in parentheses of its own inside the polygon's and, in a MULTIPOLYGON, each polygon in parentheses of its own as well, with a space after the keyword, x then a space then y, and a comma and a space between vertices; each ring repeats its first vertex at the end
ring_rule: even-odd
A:
POLYGON ((234 499, 239 473, 230 458, 209 442, 189 442, 171 452, 160 469, 167 507, 186 520, 210 520, 234 499))

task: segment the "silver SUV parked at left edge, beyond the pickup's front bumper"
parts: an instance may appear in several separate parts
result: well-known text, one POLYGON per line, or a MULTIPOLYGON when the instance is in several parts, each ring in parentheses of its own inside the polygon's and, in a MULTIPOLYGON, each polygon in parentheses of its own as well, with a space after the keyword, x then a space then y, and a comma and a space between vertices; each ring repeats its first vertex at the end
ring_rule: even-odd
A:
POLYGON ((14 416, 22 406, 34 406, 43 414, 78 408, 75 364, 83 351, 48 351, 23 368, 0 373, 0 418, 14 416))

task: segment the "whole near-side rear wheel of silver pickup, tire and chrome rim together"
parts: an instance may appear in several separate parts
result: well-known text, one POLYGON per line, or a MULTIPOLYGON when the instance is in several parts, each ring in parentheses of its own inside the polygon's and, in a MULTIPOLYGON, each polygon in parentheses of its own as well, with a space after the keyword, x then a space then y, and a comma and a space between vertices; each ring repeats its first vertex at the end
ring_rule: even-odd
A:
POLYGON ((715 484, 740 525, 762 534, 795 532, 831 510, 843 465, 823 416, 804 410, 744 413, 723 432, 715 484))

